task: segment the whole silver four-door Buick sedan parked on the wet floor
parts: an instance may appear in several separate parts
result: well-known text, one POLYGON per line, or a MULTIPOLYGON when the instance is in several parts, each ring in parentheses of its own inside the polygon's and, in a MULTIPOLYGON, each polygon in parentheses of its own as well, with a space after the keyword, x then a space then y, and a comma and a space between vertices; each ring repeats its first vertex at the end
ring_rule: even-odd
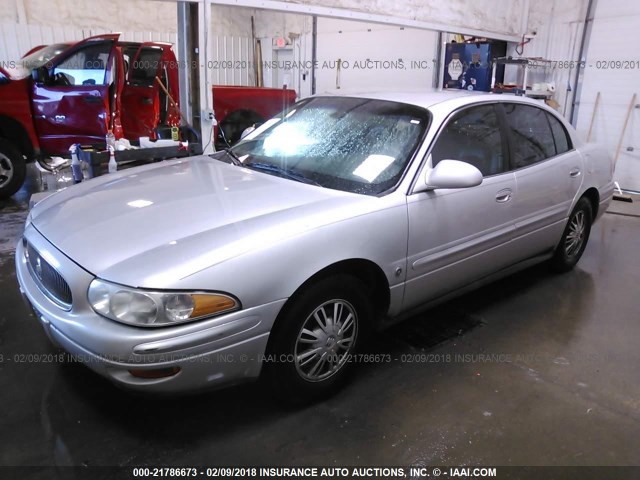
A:
POLYGON ((367 330, 525 268, 571 269, 607 154, 508 95, 317 96, 211 156, 31 211, 20 287, 50 339, 131 389, 337 388, 367 330))

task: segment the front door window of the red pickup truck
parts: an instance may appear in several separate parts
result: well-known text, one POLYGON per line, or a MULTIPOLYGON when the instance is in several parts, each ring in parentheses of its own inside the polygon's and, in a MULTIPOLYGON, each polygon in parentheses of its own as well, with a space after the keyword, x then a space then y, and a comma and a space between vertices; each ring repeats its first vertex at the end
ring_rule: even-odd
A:
POLYGON ((56 85, 105 85, 111 46, 102 42, 71 54, 55 67, 56 85))

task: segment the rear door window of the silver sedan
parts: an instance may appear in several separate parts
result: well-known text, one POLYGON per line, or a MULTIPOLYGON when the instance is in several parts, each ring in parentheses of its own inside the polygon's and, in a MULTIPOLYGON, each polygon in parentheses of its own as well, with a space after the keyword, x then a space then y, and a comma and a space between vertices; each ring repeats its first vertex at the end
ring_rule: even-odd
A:
POLYGON ((505 103, 511 131, 511 161, 514 168, 527 167, 556 154, 547 113, 541 108, 505 103))

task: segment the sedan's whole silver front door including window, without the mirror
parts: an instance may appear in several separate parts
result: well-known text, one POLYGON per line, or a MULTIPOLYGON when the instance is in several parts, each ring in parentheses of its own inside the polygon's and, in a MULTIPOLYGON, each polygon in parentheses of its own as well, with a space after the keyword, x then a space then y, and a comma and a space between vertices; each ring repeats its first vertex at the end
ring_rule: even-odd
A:
MULTIPOLYGON (((431 150, 427 168, 444 159, 474 165, 482 184, 408 197, 409 242, 404 308, 463 287, 517 261, 512 212, 518 195, 507 171, 507 146, 494 104, 456 112, 431 150)), ((424 175, 425 172, 420 173, 424 175)))

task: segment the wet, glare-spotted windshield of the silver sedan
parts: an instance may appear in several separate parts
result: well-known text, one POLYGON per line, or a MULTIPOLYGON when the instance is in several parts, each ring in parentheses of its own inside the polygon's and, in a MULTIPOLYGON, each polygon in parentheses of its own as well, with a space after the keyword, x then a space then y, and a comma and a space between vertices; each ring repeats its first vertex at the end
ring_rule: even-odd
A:
POLYGON ((268 120, 231 153, 268 174, 378 195, 398 183, 428 123, 428 112, 413 105, 314 97, 268 120))

